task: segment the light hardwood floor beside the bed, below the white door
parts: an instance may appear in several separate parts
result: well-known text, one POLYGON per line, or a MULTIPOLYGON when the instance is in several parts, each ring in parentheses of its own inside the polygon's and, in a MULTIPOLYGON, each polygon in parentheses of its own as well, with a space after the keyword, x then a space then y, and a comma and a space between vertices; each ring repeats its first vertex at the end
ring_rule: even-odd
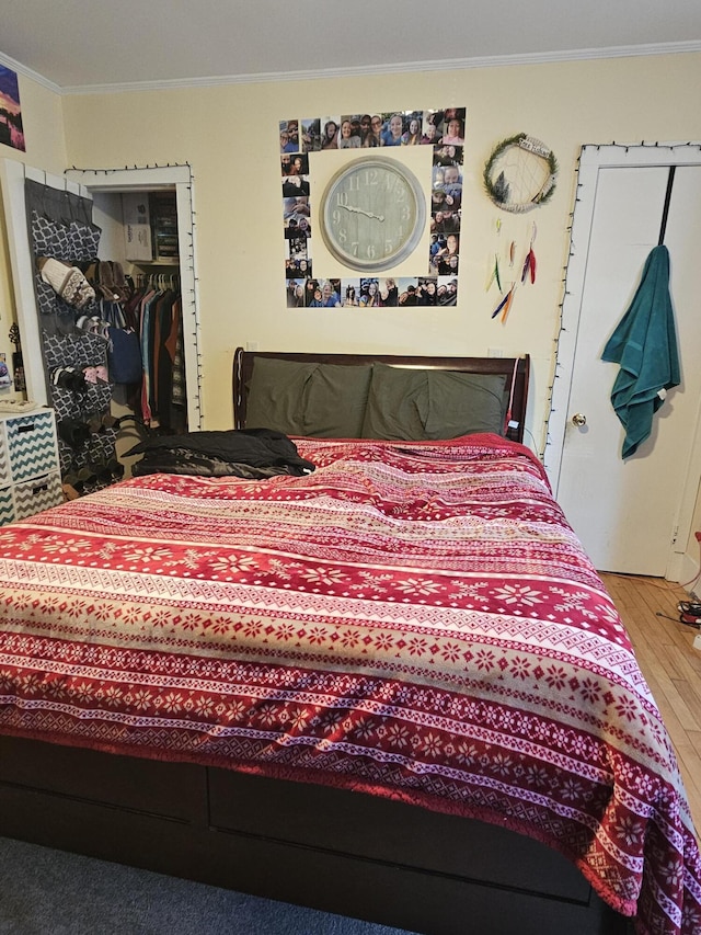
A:
POLYGON ((701 630, 677 619, 677 603, 688 601, 689 594, 660 578, 609 573, 601 578, 677 751, 697 837, 701 839, 701 650, 692 646, 701 630))

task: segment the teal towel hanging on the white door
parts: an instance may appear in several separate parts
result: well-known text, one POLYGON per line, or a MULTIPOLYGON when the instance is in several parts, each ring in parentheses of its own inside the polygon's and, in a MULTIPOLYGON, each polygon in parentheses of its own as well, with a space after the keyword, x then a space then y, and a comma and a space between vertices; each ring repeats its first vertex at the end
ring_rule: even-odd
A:
POLYGON ((632 303, 609 338, 602 361, 620 364, 611 403, 625 429, 621 457, 647 438, 665 392, 679 386, 679 351, 669 295, 669 251, 655 247, 632 303))

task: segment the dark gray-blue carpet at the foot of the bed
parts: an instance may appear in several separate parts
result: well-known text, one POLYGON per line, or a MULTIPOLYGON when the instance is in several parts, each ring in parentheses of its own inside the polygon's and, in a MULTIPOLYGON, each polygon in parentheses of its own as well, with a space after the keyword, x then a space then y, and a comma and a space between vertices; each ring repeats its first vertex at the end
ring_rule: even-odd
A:
POLYGON ((1 935, 403 935, 0 837, 1 935))

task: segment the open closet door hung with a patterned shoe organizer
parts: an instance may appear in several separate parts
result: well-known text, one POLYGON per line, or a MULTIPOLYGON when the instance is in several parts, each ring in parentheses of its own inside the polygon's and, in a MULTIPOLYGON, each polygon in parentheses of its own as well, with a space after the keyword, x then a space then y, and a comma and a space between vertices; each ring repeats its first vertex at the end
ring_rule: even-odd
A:
POLYGON ((81 327, 99 313, 95 292, 80 272, 95 266, 100 250, 93 202, 88 193, 70 191, 64 180, 51 184, 50 179, 24 178, 23 189, 10 193, 10 203, 25 208, 24 231, 21 218, 12 219, 18 221, 15 255, 23 252, 21 248, 30 254, 31 280, 19 309, 25 343, 30 335, 30 398, 35 399, 32 394, 36 392, 55 411, 64 481, 91 492, 112 483, 122 471, 115 460, 116 430, 110 412, 107 342, 81 327), (78 295, 62 288, 70 267, 84 286, 78 295))

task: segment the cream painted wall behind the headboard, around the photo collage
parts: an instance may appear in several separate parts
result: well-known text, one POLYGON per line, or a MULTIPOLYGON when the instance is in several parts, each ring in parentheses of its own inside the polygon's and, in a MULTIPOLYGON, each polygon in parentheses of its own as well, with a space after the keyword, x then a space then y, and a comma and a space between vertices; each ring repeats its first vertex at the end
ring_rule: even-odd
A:
MULTIPOLYGON (((498 347, 505 354, 531 354, 527 441, 540 449, 579 147, 613 140, 701 140, 700 84, 701 55, 692 54, 62 100, 24 81, 21 94, 31 121, 27 161, 33 164, 57 171, 56 163, 62 160, 62 105, 64 164, 193 167, 205 427, 231 424, 231 357, 233 349, 246 341, 257 341, 261 350, 329 352, 484 354, 498 347), (278 121, 461 105, 468 107, 468 144, 458 306, 372 312, 288 310, 278 121), (547 205, 526 215, 508 215, 484 196, 482 167, 498 140, 519 132, 552 148, 560 174, 547 205), (497 248, 497 218, 503 221, 501 238, 517 240, 517 256, 531 223, 538 225, 537 283, 518 289, 506 326, 491 320, 495 294, 487 295, 484 288, 497 248)), ((694 514, 701 515, 701 499, 694 514)), ((696 551, 696 541, 689 545, 690 555, 691 549, 696 551)))

